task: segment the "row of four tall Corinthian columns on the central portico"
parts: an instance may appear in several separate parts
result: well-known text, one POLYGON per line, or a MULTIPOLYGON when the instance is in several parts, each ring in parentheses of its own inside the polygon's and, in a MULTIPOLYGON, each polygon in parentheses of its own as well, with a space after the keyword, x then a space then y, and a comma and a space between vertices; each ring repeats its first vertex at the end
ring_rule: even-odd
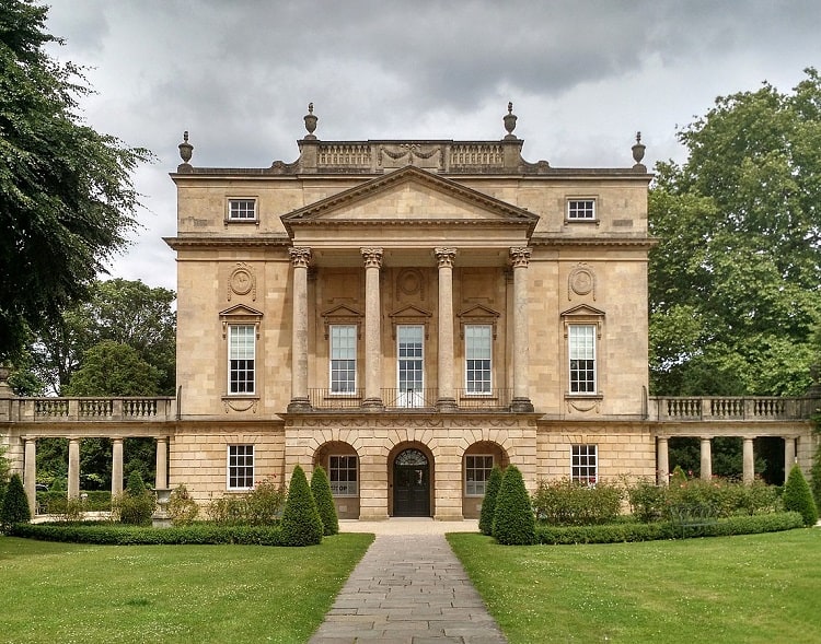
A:
MULTIPOLYGON (((311 409, 308 396, 308 268, 311 249, 290 248, 293 267, 293 326, 291 346, 293 348, 293 374, 291 378, 291 401, 288 411, 311 409)), ((453 387, 453 266, 456 248, 433 248, 438 267, 438 363, 437 363, 437 409, 456 409, 453 387)), ((360 248, 365 268, 365 400, 362 407, 379 411, 384 409, 382 400, 382 329, 380 270, 383 249, 360 248)), ((533 411, 528 391, 529 377, 529 329, 528 329, 528 276, 527 269, 531 249, 513 247, 509 249, 513 269, 513 401, 512 411, 533 411)))

